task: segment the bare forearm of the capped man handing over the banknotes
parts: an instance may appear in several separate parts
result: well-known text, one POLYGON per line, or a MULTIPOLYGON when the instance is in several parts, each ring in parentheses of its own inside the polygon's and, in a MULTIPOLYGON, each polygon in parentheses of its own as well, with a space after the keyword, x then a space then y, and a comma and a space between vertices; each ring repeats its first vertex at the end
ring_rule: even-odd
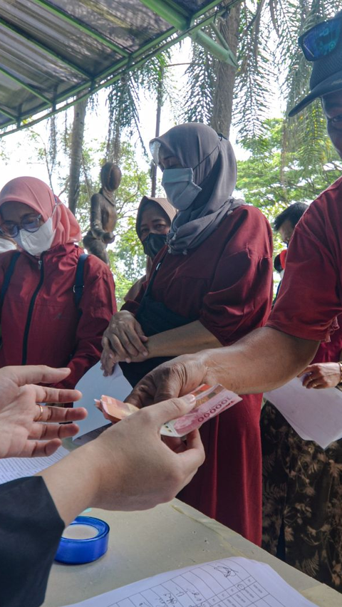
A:
POLYGON ((310 363, 319 342, 287 335, 273 328, 252 331, 233 346, 200 353, 205 380, 222 383, 237 394, 274 390, 310 363))

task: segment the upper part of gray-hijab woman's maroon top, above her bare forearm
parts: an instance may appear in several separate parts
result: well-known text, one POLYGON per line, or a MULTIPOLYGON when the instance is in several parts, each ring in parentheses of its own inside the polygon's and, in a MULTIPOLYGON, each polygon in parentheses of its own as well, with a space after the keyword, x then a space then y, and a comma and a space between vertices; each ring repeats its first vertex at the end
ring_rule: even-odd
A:
MULTIPOLYGON (((152 266, 165 254, 162 249, 152 266)), ((147 283, 123 308, 136 313, 147 283)), ((262 326, 272 290, 272 236, 255 207, 239 207, 187 255, 167 254, 152 286, 152 297, 205 328, 227 346, 262 326)))

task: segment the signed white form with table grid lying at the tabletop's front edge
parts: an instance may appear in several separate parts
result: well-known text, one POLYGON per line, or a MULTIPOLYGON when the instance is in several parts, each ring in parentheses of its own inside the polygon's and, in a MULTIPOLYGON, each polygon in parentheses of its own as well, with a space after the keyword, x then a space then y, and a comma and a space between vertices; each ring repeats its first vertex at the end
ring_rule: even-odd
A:
POLYGON ((66 607, 314 607, 265 563, 240 556, 192 565, 66 607))

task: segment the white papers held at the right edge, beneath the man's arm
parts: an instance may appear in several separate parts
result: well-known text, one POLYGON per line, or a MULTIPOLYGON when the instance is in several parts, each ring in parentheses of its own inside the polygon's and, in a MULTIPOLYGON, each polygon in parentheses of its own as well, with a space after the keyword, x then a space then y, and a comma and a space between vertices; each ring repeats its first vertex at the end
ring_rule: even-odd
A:
POLYGON ((301 379, 264 394, 304 440, 326 449, 342 438, 342 393, 337 388, 304 388, 301 379))

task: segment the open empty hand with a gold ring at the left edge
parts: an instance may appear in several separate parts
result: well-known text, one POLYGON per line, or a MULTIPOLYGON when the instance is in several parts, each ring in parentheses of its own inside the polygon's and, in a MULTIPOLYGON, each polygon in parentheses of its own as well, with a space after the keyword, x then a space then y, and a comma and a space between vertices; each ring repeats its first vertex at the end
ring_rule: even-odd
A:
POLYGON ((70 403, 79 400, 78 390, 46 388, 36 383, 58 383, 70 369, 46 365, 0 369, 0 457, 51 455, 61 440, 77 434, 78 425, 63 422, 83 420, 86 409, 48 407, 37 403, 70 403))

